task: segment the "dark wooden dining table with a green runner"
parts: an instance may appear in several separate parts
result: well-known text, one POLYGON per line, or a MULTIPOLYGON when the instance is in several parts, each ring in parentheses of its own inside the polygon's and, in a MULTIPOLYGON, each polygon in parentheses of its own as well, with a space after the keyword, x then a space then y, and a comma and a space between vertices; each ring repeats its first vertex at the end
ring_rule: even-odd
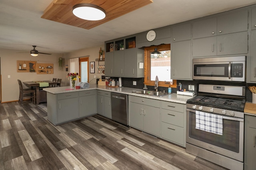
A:
POLYGON ((31 82, 23 82, 26 86, 29 86, 30 88, 36 88, 36 104, 39 104, 39 88, 47 88, 47 87, 53 87, 56 86, 58 82, 43 80, 43 81, 31 81, 31 82), (47 86, 48 85, 48 86, 47 86))

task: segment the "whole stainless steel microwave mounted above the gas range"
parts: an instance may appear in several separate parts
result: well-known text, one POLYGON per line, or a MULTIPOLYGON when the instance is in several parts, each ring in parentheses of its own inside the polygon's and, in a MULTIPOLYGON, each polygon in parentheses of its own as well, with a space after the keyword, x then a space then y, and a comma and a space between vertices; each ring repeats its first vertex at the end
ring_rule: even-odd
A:
POLYGON ((193 79, 246 81, 246 56, 193 59, 193 79))

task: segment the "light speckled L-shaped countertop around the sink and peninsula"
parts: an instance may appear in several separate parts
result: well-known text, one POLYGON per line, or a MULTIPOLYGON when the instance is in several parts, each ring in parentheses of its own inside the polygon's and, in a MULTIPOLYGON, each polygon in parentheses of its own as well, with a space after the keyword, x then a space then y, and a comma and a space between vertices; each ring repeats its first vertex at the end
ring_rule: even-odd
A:
POLYGON ((116 92, 116 93, 121 93, 121 94, 128 94, 132 96, 138 96, 138 97, 144 97, 144 98, 151 98, 151 99, 156 99, 156 100, 162 100, 162 101, 167 101, 167 102, 175 102, 175 103, 180 103, 180 104, 186 104, 187 100, 192 98, 192 96, 184 96, 184 95, 177 95, 176 93, 169 94, 167 96, 150 96, 147 94, 138 94, 134 93, 138 90, 138 88, 127 88, 127 87, 122 87, 122 88, 112 88, 108 86, 98 86, 98 85, 90 85, 90 88, 86 89, 71 89, 70 86, 64 86, 64 87, 53 87, 53 88, 44 88, 43 90, 52 94, 60 94, 60 93, 68 93, 68 92, 79 92, 83 90, 104 90, 108 92, 116 92))

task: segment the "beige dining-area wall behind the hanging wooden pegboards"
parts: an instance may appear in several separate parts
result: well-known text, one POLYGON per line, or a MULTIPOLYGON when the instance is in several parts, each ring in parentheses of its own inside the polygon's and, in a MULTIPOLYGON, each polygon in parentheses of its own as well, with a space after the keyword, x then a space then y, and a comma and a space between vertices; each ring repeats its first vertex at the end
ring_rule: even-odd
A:
MULTIPOLYGON (((104 47, 104 44, 101 46, 104 47)), ((19 98, 19 86, 18 79, 22 82, 24 81, 35 81, 35 80, 52 80, 52 78, 62 78, 62 86, 69 86, 68 78, 66 75, 68 72, 65 70, 65 66, 63 66, 62 70, 58 68, 58 58, 64 57, 65 65, 68 64, 68 59, 83 57, 86 55, 90 55, 89 61, 95 62, 95 74, 89 75, 89 80, 94 78, 94 75, 101 78, 101 75, 98 74, 97 67, 98 61, 95 59, 98 58, 100 47, 93 47, 90 49, 83 49, 74 51, 68 54, 52 54, 52 55, 43 55, 39 54, 38 57, 32 57, 29 53, 19 53, 20 51, 10 50, 10 49, 0 49, 0 60, 1 60, 1 76, 2 76, 2 84, 1 84, 1 95, 2 95, 2 103, 18 101, 19 98), (21 61, 36 61, 37 63, 53 63, 54 64, 54 74, 36 74, 36 72, 17 72, 16 64, 17 60, 21 61), (10 78, 8 78, 10 75, 10 78)), ((104 64, 104 62, 100 62, 100 64, 104 64)), ((96 80, 92 80, 90 84, 96 84, 96 80)))

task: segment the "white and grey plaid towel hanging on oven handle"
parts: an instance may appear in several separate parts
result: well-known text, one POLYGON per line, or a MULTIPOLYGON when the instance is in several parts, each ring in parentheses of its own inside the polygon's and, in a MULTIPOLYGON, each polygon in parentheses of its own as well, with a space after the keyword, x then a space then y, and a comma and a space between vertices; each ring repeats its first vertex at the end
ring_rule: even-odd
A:
POLYGON ((196 129, 222 135, 222 116, 196 111, 196 129))

